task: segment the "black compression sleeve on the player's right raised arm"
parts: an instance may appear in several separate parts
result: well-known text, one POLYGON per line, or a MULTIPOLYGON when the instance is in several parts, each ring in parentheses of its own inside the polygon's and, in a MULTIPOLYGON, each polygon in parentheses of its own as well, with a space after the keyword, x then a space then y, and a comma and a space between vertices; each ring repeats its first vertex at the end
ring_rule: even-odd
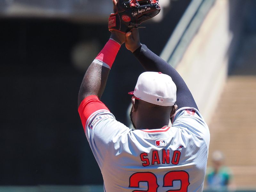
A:
POLYGON ((134 51, 133 54, 140 61, 146 71, 162 72, 172 77, 173 82, 177 86, 176 104, 178 105, 178 108, 193 107, 198 109, 185 81, 171 65, 150 51, 144 44, 134 51))

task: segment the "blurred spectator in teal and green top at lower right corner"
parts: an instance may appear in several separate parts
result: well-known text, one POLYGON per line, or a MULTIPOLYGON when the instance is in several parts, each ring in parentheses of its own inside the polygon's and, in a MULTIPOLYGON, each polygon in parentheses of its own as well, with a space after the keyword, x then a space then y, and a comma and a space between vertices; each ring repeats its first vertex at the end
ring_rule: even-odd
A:
POLYGON ((224 166, 224 156, 220 151, 212 153, 212 167, 206 174, 207 189, 211 191, 228 191, 234 188, 233 175, 230 169, 224 166))

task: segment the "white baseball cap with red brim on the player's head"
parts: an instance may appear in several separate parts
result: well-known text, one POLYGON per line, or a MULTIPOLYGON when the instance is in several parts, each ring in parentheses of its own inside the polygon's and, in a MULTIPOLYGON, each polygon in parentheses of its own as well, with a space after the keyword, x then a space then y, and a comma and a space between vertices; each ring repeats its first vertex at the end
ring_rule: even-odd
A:
POLYGON ((137 81, 134 92, 135 99, 147 101, 160 106, 173 106, 176 102, 176 85, 172 77, 161 72, 144 72, 137 81))

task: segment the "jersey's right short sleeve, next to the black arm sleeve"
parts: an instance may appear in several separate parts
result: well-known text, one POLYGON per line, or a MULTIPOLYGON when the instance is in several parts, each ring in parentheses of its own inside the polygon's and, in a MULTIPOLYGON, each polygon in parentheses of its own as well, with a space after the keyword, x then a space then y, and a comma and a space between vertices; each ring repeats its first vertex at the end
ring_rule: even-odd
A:
POLYGON ((187 129, 192 134, 202 138, 206 143, 207 149, 209 150, 209 128, 202 115, 196 108, 180 108, 173 116, 172 122, 172 126, 187 129))

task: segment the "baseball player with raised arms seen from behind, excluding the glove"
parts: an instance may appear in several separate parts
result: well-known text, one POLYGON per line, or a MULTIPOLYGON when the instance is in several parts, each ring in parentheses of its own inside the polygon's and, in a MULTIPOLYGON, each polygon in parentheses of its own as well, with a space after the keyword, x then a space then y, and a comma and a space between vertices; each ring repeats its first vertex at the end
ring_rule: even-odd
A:
POLYGON ((184 80, 140 44, 137 29, 123 33, 112 30, 85 73, 78 106, 105 192, 203 191, 209 129, 184 80), (116 121, 100 101, 108 73, 124 43, 146 70, 134 91, 129 92, 134 129, 116 121))

